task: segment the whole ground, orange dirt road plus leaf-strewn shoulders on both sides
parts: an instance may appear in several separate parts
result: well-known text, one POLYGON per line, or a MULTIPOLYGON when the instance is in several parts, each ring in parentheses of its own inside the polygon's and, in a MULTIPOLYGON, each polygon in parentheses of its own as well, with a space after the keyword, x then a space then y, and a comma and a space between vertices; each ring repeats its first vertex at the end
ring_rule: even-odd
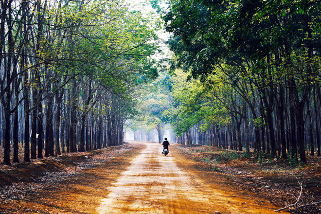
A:
POLYGON ((303 203, 320 200, 318 158, 292 168, 281 160, 231 158, 239 154, 209 146, 177 145, 167 157, 160 150, 158 143, 126 143, 0 165, 0 214, 274 213, 296 201, 297 179, 303 203), (128 189, 128 182, 136 188, 128 189))

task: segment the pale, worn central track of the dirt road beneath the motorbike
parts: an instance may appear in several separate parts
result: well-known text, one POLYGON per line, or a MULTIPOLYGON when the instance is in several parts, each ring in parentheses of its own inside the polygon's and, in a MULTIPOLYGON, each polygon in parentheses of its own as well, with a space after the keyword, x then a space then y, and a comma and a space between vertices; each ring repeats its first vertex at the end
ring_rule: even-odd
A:
POLYGON ((114 186, 107 187, 110 193, 98 208, 100 214, 274 214, 273 208, 215 190, 183 171, 181 154, 173 147, 167 157, 161 150, 160 144, 146 143, 114 186))

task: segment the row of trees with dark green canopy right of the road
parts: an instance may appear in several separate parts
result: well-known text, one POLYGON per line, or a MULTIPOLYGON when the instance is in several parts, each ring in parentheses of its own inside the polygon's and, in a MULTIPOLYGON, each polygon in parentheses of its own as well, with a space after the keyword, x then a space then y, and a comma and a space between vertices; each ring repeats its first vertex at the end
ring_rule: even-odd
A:
POLYGON ((201 122, 209 139, 223 130, 240 151, 299 154, 303 162, 307 151, 320 156, 320 1, 171 4, 164 20, 173 33, 173 66, 187 71, 183 79, 190 81, 174 82, 177 133, 188 135, 201 122))

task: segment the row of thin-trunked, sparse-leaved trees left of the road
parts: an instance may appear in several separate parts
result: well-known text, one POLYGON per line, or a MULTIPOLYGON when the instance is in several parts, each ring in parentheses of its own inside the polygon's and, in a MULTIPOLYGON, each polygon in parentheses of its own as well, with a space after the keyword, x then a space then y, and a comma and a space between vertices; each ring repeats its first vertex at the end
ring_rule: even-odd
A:
MULTIPOLYGON (((3 0, 4 163, 123 143, 136 92, 157 77, 155 24, 118 0, 3 0), (65 150, 67 149, 67 150, 65 150)), ((3 139, 3 140, 2 140, 3 139)))

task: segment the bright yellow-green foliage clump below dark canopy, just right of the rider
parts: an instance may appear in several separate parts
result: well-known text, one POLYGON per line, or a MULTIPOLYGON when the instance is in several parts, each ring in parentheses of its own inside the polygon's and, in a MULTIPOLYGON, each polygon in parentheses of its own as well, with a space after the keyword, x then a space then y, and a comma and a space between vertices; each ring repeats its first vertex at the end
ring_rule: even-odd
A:
POLYGON ((212 124, 226 125, 230 122, 227 109, 219 105, 212 91, 198 80, 188 80, 188 74, 180 70, 173 76, 172 93, 174 104, 170 120, 176 133, 202 121, 200 129, 207 130, 212 124))

